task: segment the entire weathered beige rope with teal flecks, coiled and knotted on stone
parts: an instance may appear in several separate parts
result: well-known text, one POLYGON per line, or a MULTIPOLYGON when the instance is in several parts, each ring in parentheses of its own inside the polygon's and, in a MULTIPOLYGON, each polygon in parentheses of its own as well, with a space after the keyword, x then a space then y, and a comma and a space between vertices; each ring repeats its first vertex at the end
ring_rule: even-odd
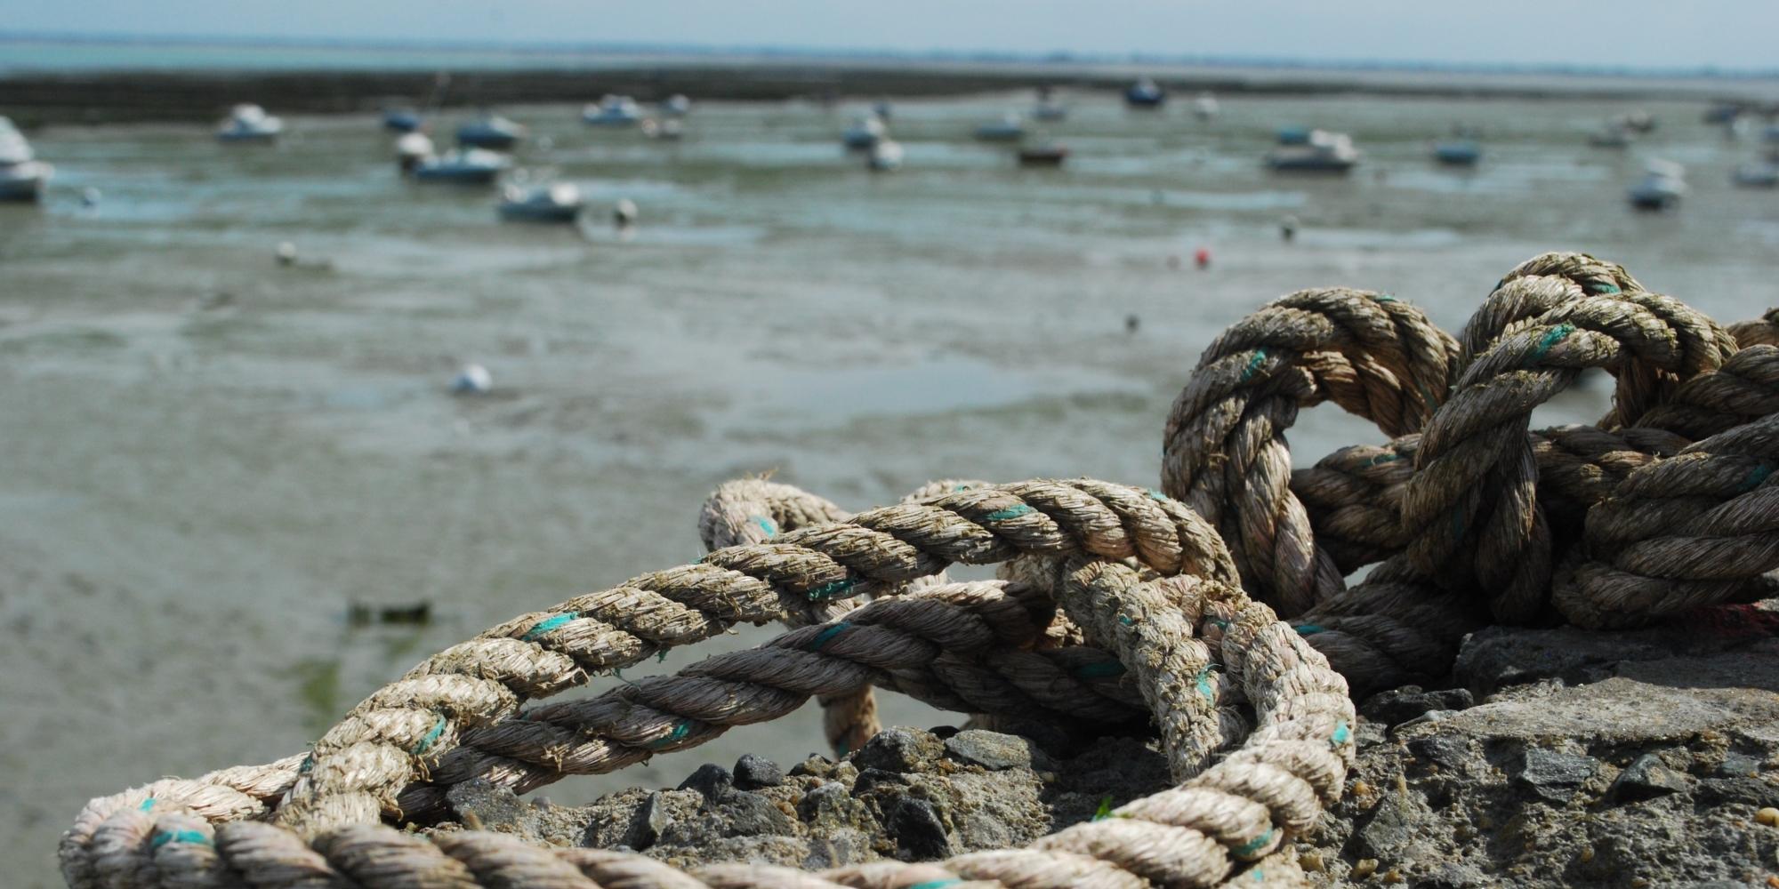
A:
POLYGON ((1352 763, 1348 688, 1439 677, 1489 621, 1635 626, 1774 592, 1775 345, 1779 311, 1724 329, 1583 254, 1523 263, 1457 338, 1388 295, 1293 293, 1224 332, 1176 400, 1171 496, 945 482, 847 516, 788 485, 724 485, 701 562, 447 649, 310 754, 93 800, 62 871, 76 889, 1299 885, 1288 843, 1352 763), (1612 412, 1528 432, 1587 368, 1617 379, 1612 412), (1395 439, 1292 473, 1284 432, 1322 400, 1395 439), (1003 580, 946 583, 948 564, 1003 580), (767 621, 793 629, 527 706, 767 621), (872 686, 991 715, 1147 717, 1181 784, 1025 850, 824 873, 384 825, 445 814, 463 781, 608 772, 811 695, 829 740, 856 747, 872 686))

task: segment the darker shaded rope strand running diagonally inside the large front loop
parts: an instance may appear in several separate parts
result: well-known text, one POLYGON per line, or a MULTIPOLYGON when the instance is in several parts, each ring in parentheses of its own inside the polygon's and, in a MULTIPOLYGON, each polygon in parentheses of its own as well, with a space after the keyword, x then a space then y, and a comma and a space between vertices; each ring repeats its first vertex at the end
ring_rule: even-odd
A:
POLYGON ((425 781, 402 791, 409 820, 448 813, 445 791, 471 779, 527 793, 568 775, 616 772, 701 745, 733 725, 788 715, 808 697, 881 685, 936 708, 1091 720, 1147 720, 1114 654, 1030 651, 1048 597, 1003 581, 946 583, 868 603, 838 621, 637 679, 587 701, 546 704, 464 733, 425 781))

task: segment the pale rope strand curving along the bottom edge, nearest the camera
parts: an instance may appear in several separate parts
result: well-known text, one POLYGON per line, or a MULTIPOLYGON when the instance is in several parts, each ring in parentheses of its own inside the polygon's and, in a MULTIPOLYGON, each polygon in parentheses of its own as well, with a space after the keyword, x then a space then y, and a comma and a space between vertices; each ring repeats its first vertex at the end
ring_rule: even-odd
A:
MULTIPOLYGON (((1324 805, 1340 797, 1352 761, 1352 702, 1340 676, 1270 610, 1224 583, 1142 581, 1135 569, 1078 564, 1064 606, 1083 626, 1108 619, 1123 660, 1155 665, 1179 624, 1199 615, 1231 683, 1254 704, 1258 729, 1244 747, 1187 784, 1135 800, 1051 834, 1026 850, 980 852, 943 862, 875 862, 811 875, 786 868, 717 864, 692 873, 633 853, 546 850, 484 832, 431 839, 381 825, 352 825, 304 841, 263 821, 210 821, 189 813, 125 809, 94 830, 94 869, 112 889, 157 887, 868 887, 957 885, 1300 885, 1284 853, 1324 805), (1238 869, 1242 862, 1251 862, 1238 869), (1270 873, 1268 873, 1270 871, 1270 873)), ((795 633, 809 633, 813 628, 795 633)), ((1146 699, 1201 695, 1197 677, 1139 672, 1146 699), (1144 679, 1147 676, 1147 679, 1144 679)), ((1163 708, 1185 711, 1190 708, 1163 708)), ((1179 768, 1171 743, 1171 761, 1179 768)))

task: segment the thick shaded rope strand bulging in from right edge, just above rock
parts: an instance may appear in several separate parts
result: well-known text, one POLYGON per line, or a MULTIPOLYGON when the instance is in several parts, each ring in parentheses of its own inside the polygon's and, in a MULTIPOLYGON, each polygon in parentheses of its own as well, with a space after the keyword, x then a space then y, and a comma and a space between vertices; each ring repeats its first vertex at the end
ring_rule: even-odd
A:
POLYGON ((1580 626, 1647 624, 1756 601, 1779 569, 1779 414, 1646 466, 1587 514, 1587 557, 1555 583, 1580 626))

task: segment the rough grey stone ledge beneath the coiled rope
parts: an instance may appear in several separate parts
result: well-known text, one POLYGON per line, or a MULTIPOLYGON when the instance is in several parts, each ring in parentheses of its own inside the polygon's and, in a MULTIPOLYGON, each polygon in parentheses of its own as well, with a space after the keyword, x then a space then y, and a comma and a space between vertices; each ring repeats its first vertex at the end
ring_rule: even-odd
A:
MULTIPOLYGON (((1487 629, 1450 688, 1361 704, 1347 797, 1297 845, 1320 885, 1779 887, 1770 628, 1487 629)), ((587 807, 487 784, 464 825, 680 864, 829 868, 1023 846, 1167 786, 1147 738, 888 729, 841 761, 745 756, 587 807)), ((448 829, 448 827, 447 827, 448 829)))

